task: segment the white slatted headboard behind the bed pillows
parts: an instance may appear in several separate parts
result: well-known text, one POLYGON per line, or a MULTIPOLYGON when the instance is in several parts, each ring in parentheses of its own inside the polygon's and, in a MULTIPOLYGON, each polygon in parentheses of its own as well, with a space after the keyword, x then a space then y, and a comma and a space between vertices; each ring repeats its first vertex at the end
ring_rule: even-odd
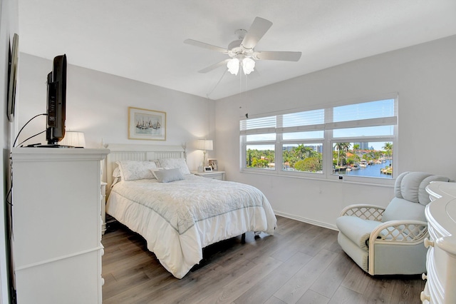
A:
MULTIPOLYGON (((116 161, 152 161, 159 158, 185 158, 185 149, 182 146, 163 145, 136 145, 109 143, 106 148, 110 153, 106 157, 105 181, 108 183, 107 191, 113 183, 113 171, 117 166, 116 161)), ((104 176, 104 173, 103 173, 104 176)))

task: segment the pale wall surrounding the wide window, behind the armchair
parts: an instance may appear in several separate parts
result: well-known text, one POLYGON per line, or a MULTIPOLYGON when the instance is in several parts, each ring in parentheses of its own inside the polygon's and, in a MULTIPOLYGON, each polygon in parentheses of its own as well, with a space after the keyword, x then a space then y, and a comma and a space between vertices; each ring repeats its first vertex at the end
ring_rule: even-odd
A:
MULTIPOLYGON (((427 171, 456 180, 456 36, 300 76, 217 101, 219 166, 227 178, 257 186, 274 211, 334 227, 351 203, 386 206, 391 187, 239 172, 239 118, 383 93, 399 93, 395 173, 427 171)), ((302 58, 301 60, 306 60, 302 58)))

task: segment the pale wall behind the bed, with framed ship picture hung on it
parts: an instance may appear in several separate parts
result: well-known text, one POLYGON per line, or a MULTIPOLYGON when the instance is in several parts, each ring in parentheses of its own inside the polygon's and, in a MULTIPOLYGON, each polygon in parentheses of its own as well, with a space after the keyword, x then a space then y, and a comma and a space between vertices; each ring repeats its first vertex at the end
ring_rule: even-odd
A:
MULTIPOLYGON (((60 54, 55 54, 55 56, 60 54)), ((214 102, 187 93, 133 81, 71 65, 68 59, 66 129, 83 131, 87 148, 103 143, 180 145, 187 143, 188 164, 196 170, 202 152, 192 149, 197 138, 214 135, 214 102), (167 113, 166 141, 128 139, 128 107, 167 113)), ((21 53, 19 126, 38 113, 46 113, 46 76, 52 62, 21 53)), ((54 55, 53 55, 54 56, 54 55)), ((46 128, 46 116, 40 116, 24 128, 18 143, 46 128)), ((27 143, 46 143, 43 134, 27 143)), ((209 152, 209 157, 211 156, 209 152)))

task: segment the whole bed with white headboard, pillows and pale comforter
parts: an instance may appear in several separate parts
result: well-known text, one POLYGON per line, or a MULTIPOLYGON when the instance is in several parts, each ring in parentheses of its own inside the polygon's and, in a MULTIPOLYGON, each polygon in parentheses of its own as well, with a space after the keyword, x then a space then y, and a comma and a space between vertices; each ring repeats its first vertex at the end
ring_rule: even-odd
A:
POLYGON ((207 245, 249 231, 274 234, 276 217, 261 191, 191 174, 182 147, 108 148, 106 213, 142 235, 176 278, 202 260, 207 245))

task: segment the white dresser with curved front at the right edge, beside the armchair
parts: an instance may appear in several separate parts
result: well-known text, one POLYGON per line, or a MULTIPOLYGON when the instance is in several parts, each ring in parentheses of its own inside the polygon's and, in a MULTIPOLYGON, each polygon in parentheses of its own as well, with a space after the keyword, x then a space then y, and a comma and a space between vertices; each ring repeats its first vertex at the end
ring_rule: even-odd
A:
POLYGON ((456 183, 433 182, 426 187, 429 228, 423 303, 456 303, 456 183))

